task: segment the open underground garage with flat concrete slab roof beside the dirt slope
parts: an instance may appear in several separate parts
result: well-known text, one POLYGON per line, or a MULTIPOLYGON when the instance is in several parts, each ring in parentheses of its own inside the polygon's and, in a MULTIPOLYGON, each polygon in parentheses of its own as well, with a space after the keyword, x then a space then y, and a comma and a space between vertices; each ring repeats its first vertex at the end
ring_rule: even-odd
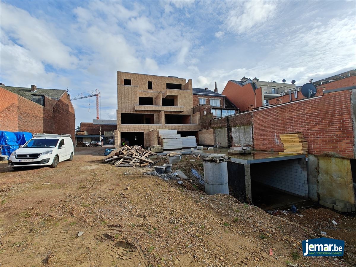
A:
POLYGON ((241 201, 271 210, 308 199, 305 155, 253 152, 227 162, 229 188, 241 201))

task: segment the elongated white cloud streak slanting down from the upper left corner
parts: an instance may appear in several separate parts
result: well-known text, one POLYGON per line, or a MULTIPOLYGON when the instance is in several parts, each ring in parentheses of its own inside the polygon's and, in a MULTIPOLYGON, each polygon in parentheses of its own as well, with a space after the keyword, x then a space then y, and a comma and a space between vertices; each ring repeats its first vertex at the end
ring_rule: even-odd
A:
POLYGON ((74 68, 77 63, 72 49, 58 40, 45 21, 4 2, 1 3, 1 29, 37 60, 59 68, 74 68))

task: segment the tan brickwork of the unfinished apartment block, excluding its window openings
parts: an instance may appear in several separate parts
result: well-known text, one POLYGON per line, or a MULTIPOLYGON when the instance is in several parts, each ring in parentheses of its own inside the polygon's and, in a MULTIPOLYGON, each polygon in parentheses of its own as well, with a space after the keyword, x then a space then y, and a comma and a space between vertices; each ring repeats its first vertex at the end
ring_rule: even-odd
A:
MULTIPOLYGON (((169 129, 199 131, 200 116, 193 114, 192 80, 128 72, 117 72, 117 130, 143 132, 144 146, 150 146, 150 131, 169 129), (125 85, 125 79, 131 85, 125 85), (148 82, 152 89, 148 89, 148 82), (182 89, 167 89, 166 84, 180 84, 182 89), (153 105, 139 105, 139 97, 152 98, 153 105), (162 106, 163 98, 174 99, 174 106, 162 106), (122 124, 122 114, 153 114, 153 124, 122 124), (182 124, 166 124, 166 115, 184 115, 182 124)), ((115 143, 120 140, 115 139, 115 143)))

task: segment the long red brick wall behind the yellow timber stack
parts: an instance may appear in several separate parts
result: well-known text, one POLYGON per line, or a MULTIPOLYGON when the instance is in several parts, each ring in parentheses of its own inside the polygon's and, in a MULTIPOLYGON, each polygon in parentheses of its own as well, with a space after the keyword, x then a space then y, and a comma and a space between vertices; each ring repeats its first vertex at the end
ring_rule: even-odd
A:
MULTIPOLYGON (((289 97, 289 96, 288 96, 289 97)), ((280 134, 302 132, 310 154, 354 158, 351 91, 253 111, 256 150, 283 151, 280 134)))

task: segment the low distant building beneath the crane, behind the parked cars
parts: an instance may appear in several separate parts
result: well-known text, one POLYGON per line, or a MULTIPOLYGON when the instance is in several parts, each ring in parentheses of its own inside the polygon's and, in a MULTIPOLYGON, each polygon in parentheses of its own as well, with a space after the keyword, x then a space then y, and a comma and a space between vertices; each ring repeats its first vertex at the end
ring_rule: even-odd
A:
POLYGON ((75 135, 75 143, 103 140, 103 145, 114 144, 116 120, 93 120, 93 122, 80 122, 80 131, 75 135))

